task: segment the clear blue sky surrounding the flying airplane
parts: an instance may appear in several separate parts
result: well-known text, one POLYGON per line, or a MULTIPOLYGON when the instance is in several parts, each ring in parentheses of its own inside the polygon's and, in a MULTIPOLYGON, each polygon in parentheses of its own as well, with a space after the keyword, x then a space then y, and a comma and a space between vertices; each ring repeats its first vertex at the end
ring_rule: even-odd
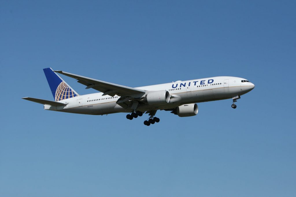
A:
MULTIPOLYGON (((0 2, 0 196, 295 196, 295 1, 0 2), (43 110, 43 68, 136 87, 255 89, 194 117, 43 110)), ((94 93, 62 76, 79 94, 94 93)))

